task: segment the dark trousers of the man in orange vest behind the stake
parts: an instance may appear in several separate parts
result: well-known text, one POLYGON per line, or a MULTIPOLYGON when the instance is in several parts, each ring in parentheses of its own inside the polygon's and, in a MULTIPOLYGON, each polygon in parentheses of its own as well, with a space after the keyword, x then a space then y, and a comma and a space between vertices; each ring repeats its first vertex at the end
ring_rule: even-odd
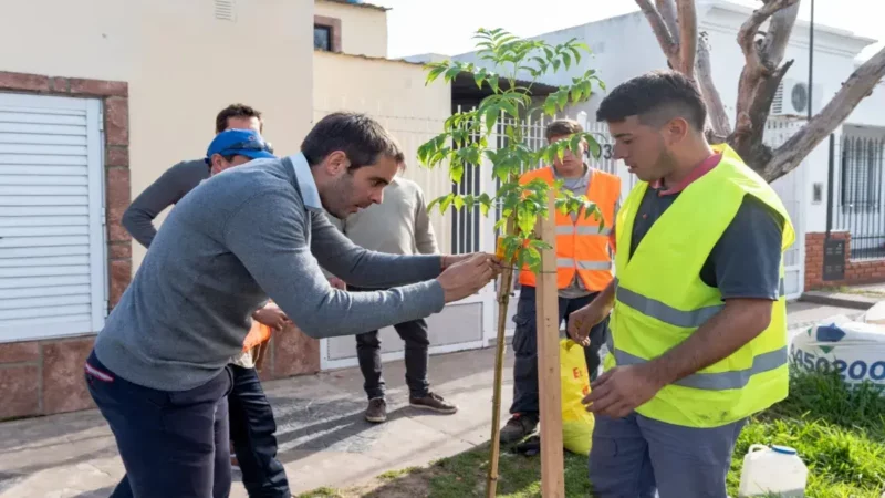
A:
MULTIPOLYGON (((538 414, 538 320, 534 303, 535 289, 522 286, 517 303, 517 314, 513 322, 517 331, 513 334, 513 404, 510 413, 538 414)), ((585 307, 596 294, 583 298, 560 298, 560 323, 566 321, 572 312, 585 307)), ((591 380, 596 377, 596 372, 602 364, 600 347, 605 343, 608 330, 606 318, 590 331, 590 345, 584 347, 584 359, 587 362, 587 372, 591 380)))

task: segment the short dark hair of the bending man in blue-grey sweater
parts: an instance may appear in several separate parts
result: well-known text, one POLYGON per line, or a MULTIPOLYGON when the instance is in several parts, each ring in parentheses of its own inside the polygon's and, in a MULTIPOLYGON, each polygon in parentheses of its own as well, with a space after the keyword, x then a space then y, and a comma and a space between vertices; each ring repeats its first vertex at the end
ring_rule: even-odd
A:
POLYGON ((335 151, 351 162, 350 169, 375 164, 379 156, 405 164, 406 157, 396 139, 366 114, 336 112, 320 120, 301 143, 308 164, 316 166, 335 151))

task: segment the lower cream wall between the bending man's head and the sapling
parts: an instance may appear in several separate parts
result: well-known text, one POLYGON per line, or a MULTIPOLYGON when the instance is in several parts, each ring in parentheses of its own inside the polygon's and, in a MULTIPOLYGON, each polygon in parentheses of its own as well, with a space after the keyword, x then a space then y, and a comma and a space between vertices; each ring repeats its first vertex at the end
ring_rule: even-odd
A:
MULTIPOLYGON (((445 166, 418 164, 418 147, 442 131, 451 115, 451 89, 441 81, 425 86, 421 65, 315 52, 313 60, 314 121, 334 111, 367 113, 399 141, 408 162, 404 176, 417 181, 429 203, 451 191, 445 166), (354 84, 358 81, 360 84, 354 84)), ((450 217, 433 215, 440 250, 449 252, 450 217)))

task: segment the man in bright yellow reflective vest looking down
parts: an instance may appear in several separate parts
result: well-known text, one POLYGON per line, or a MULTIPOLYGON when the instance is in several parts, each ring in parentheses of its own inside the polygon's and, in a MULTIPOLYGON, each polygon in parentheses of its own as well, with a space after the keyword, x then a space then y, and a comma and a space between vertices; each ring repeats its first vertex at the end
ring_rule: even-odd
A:
POLYGON ((576 340, 611 311, 594 496, 726 497, 747 418, 787 396, 782 256, 795 239, 774 190, 704 135, 695 83, 653 72, 596 112, 638 179, 617 216, 616 279, 572 313, 576 340))

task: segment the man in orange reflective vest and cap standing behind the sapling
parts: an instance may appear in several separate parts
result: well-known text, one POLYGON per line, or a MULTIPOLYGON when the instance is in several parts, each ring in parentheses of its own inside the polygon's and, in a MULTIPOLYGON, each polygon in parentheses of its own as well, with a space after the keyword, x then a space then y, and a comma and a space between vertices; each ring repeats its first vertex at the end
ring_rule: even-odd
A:
MULTIPOLYGON (((583 133, 574 120, 556 120, 548 125, 549 143, 571 139, 583 133)), ((548 185, 562 180, 562 188, 574 195, 585 195, 596 204, 598 214, 564 215, 556 212, 556 288, 559 289, 560 321, 572 311, 583 308, 612 281, 612 252, 614 251, 614 226, 621 200, 621 178, 590 167, 584 162, 586 141, 581 141, 579 151, 565 151, 553 166, 528 172, 521 184, 541 179, 548 185), (601 218, 600 218, 601 217, 601 218), (600 228, 600 221, 604 226, 600 228)), ((532 434, 538 426, 538 342, 534 305, 537 279, 523 268, 519 274, 520 294, 513 321, 513 404, 510 421, 501 429, 501 443, 516 443, 532 434)), ((591 378, 602 363, 600 346, 605 341, 607 322, 596 324, 591 333, 591 344, 584 347, 584 357, 591 378)))

